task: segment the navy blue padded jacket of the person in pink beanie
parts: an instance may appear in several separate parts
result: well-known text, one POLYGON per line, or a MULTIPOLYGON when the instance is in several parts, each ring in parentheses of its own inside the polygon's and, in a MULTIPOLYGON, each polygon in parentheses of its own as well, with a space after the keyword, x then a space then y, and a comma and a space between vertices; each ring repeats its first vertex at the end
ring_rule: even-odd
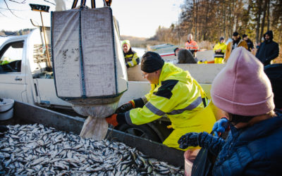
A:
POLYGON ((282 175, 282 114, 252 127, 231 126, 226 141, 204 134, 203 147, 219 153, 213 175, 282 175))

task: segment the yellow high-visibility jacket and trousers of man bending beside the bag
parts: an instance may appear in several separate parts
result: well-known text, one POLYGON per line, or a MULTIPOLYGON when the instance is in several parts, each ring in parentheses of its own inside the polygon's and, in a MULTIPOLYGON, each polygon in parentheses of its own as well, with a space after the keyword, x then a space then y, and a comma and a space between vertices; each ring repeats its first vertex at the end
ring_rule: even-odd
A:
POLYGON ((125 113, 129 125, 142 125, 166 114, 174 130, 163 144, 176 149, 179 149, 178 139, 187 132, 211 132, 215 118, 197 116, 204 110, 205 94, 188 71, 164 63, 159 84, 151 87, 149 94, 134 100, 136 108, 125 113))

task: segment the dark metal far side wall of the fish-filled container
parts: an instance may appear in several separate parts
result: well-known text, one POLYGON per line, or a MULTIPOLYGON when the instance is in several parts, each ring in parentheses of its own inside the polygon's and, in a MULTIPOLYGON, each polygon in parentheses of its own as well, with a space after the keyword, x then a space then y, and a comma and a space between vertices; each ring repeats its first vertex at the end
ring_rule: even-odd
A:
MULTIPOLYGON (((19 101, 15 101, 13 111, 13 118, 6 121, 0 121, 0 123, 5 125, 39 123, 47 127, 54 127, 56 130, 80 134, 80 130, 85 121, 84 118, 65 115, 19 101)), ((159 161, 164 161, 177 167, 184 165, 183 151, 169 148, 163 144, 152 142, 111 128, 109 128, 106 138, 135 147, 138 151, 141 151, 150 158, 156 158, 159 161)))

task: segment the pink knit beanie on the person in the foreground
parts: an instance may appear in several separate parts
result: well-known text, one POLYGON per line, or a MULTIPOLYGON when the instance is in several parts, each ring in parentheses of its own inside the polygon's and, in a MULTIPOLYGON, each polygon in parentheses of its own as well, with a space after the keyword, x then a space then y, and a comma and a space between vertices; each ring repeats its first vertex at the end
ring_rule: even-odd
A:
POLYGON ((234 49, 216 75, 212 101, 223 111, 255 116, 274 110, 274 94, 262 63, 243 47, 234 49))

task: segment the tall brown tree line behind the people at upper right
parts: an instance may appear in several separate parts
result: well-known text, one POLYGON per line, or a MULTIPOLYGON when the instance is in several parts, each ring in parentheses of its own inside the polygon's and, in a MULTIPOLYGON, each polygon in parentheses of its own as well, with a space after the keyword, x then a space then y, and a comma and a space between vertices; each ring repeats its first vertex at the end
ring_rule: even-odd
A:
POLYGON ((281 0, 185 0, 178 23, 169 28, 160 26, 151 40, 183 44, 192 33, 197 42, 215 42, 237 31, 259 43, 268 30, 281 44, 281 0))

